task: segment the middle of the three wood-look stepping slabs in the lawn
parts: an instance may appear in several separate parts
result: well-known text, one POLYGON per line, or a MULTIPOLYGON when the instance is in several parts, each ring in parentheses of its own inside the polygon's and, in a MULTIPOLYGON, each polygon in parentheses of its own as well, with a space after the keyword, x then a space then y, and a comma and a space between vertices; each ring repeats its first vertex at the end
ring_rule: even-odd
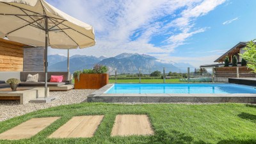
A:
POLYGON ((75 116, 49 138, 91 138, 103 117, 104 115, 75 116))

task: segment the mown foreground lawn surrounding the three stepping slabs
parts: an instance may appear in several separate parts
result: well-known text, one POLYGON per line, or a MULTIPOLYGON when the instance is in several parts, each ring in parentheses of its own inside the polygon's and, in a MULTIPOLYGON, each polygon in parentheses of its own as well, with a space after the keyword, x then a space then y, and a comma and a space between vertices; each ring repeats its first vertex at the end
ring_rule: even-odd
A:
POLYGON ((0 133, 30 118, 61 116, 31 139, 0 143, 256 143, 256 106, 246 104, 105 104, 81 103, 43 109, 0 123, 0 133), (145 114, 154 136, 111 137, 118 114, 145 114), (93 138, 49 139, 72 116, 104 115, 93 138))

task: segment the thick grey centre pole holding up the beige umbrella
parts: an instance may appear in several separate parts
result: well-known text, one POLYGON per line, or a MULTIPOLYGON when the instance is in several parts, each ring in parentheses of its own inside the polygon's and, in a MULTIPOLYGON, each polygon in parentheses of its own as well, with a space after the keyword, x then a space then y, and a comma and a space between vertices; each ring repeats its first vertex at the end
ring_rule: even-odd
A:
POLYGON ((48 61, 47 61, 47 53, 48 53, 48 18, 45 16, 45 52, 44 52, 44 58, 45 58, 45 64, 44 64, 44 71, 45 71, 45 91, 44 91, 44 97, 48 97, 48 90, 47 90, 47 71, 48 71, 48 61))

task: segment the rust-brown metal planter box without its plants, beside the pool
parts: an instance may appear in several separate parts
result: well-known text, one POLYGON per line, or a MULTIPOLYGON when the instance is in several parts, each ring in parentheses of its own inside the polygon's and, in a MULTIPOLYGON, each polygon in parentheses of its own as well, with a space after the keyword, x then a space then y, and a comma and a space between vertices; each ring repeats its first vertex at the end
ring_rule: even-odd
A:
POLYGON ((75 79, 75 89, 100 89, 108 84, 108 74, 81 74, 75 79))

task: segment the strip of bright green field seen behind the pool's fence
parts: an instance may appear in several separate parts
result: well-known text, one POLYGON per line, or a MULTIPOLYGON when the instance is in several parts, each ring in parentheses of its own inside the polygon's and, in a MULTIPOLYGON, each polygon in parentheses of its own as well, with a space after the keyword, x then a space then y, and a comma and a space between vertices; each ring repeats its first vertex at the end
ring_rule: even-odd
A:
MULTIPOLYGON (((117 79, 117 83, 140 83, 139 79, 117 79)), ((141 79, 141 83, 163 83, 163 79, 141 79)), ((180 83, 179 79, 166 79, 166 83, 180 83)), ((115 83, 115 79, 109 79, 109 83, 115 83)))

